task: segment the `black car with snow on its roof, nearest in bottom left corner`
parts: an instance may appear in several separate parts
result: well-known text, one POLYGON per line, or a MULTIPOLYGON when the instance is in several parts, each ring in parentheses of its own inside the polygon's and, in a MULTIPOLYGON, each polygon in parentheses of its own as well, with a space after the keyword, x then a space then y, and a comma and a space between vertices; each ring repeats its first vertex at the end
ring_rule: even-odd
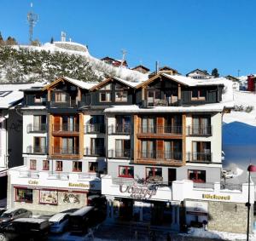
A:
POLYGON ((5 228, 5 240, 47 240, 49 221, 37 218, 18 218, 5 228))

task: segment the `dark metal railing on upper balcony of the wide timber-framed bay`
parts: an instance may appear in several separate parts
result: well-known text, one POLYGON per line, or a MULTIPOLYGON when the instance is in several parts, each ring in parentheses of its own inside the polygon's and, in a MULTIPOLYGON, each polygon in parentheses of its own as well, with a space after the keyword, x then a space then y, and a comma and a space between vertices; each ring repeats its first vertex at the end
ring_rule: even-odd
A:
POLYGON ((182 126, 142 125, 138 127, 138 134, 182 135, 182 133, 182 126))

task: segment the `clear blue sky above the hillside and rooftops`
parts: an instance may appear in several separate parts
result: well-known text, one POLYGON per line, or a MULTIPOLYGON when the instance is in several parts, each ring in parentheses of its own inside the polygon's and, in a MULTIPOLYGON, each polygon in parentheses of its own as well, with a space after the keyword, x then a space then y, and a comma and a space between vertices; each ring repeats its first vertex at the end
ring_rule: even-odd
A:
MULTIPOLYGON (((0 32, 28 43, 31 1, 0 0, 0 32)), ((89 46, 91 55, 121 58, 154 70, 171 66, 221 75, 256 73, 256 1, 253 0, 34 0, 34 38, 60 40, 61 31, 89 46)))

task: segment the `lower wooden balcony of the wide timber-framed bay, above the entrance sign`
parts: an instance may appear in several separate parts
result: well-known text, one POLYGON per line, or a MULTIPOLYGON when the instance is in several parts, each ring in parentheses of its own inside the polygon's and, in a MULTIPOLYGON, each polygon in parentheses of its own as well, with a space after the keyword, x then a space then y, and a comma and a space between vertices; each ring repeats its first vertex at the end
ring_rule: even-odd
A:
POLYGON ((136 164, 164 164, 164 165, 183 165, 183 152, 138 152, 136 164))

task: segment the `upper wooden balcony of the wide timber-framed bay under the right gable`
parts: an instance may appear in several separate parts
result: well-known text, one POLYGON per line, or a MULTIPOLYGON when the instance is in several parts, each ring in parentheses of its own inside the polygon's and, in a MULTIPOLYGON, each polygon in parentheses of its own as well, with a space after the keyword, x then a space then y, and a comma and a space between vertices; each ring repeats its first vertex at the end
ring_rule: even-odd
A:
POLYGON ((142 125, 138 126, 137 137, 139 138, 161 138, 169 139, 170 136, 182 138, 183 127, 182 126, 169 126, 169 125, 142 125))

